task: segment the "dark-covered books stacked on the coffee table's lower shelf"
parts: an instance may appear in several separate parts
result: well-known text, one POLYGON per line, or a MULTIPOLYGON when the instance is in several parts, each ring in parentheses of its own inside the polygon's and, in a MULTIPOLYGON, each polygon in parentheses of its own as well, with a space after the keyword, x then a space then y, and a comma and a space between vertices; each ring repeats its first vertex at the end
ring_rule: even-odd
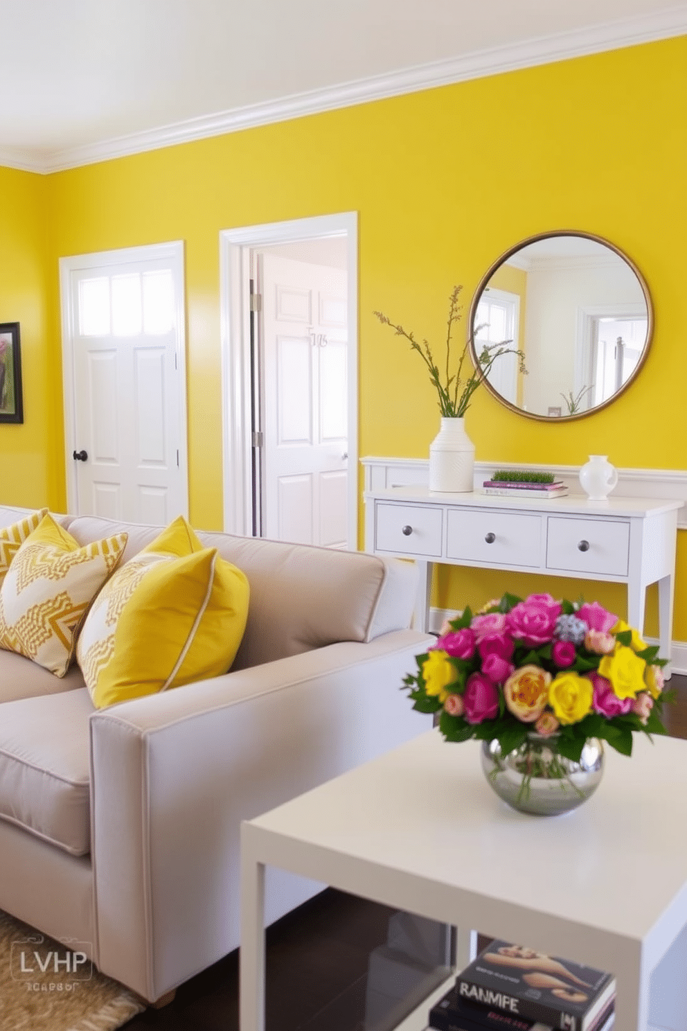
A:
POLYGON ((436 1031, 609 1031, 615 977, 492 941, 430 1011, 436 1031))

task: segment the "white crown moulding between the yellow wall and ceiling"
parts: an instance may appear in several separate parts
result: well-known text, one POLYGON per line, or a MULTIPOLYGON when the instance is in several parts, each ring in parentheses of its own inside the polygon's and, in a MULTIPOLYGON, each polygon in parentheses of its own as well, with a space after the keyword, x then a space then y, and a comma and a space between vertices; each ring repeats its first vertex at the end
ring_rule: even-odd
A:
POLYGON ((156 151, 209 136, 222 136, 226 133, 256 126, 336 110, 353 104, 383 100, 439 86, 450 86, 453 82, 497 75, 519 68, 566 61, 623 46, 654 42, 686 33, 687 4, 680 3, 667 10, 651 14, 634 15, 590 28, 574 29, 570 32, 477 51, 384 75, 372 75, 339 86, 188 119, 98 143, 66 147, 41 157, 32 155, 26 148, 14 151, 5 147, 4 151, 0 151, 0 164, 9 168, 48 174, 99 161, 141 154, 144 151, 156 151))

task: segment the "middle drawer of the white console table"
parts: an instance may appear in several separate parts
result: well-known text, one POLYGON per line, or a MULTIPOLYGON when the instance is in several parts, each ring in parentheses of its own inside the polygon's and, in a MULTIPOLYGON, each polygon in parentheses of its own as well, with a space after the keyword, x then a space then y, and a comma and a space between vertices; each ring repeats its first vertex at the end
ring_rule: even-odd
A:
POLYGON ((448 512, 449 559, 536 567, 541 562, 541 541, 540 516, 487 509, 448 512))

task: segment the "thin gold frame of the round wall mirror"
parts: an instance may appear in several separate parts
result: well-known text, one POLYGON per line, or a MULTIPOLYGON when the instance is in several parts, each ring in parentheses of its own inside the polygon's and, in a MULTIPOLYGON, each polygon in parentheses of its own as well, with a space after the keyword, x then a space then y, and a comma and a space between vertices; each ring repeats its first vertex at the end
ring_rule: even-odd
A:
MULTIPOLYGON (((468 320, 468 327, 470 333, 469 337, 470 358, 476 369, 479 369, 480 366, 474 338, 475 319, 477 315, 477 306, 482 298, 482 294, 484 293, 484 290, 488 285, 491 276, 494 274, 494 272, 496 272, 501 268, 502 265, 504 265, 508 261, 509 258, 512 258, 513 255, 517 254, 519 251, 522 251, 524 247, 528 246, 531 243, 537 243, 539 240, 548 240, 557 236, 575 236, 586 240, 592 240, 595 243, 599 243, 603 246, 608 247, 609 251, 612 251, 620 259, 622 259, 622 261, 628 266, 628 268, 630 268, 631 271, 634 273, 637 280, 640 284, 640 287, 642 288, 642 293, 644 294, 644 300, 647 306, 647 334, 644 342, 644 347, 642 350, 642 354, 637 363, 637 366, 634 367, 632 372, 628 375, 627 379, 615 392, 615 394, 611 395, 611 397, 607 398, 605 401, 602 401, 599 404, 594 405, 592 408, 585 409, 584 411, 578 411, 572 414, 569 413, 566 415, 563 414, 544 415, 534 411, 526 411, 524 408, 520 408, 518 407, 518 405, 513 404, 511 401, 508 401, 505 397, 503 397, 499 393, 497 390, 495 390, 494 387, 491 386, 486 376, 482 376, 482 383, 484 384, 485 388, 487 389, 489 394, 491 394, 491 396, 494 397, 496 401, 500 402, 500 404, 503 404, 506 408, 510 408, 511 411, 516 412, 518 415, 523 415, 525 419, 535 419, 541 423, 571 423, 577 419, 585 419, 588 415, 593 415, 597 411, 602 411, 604 408, 607 408, 614 401, 617 401, 620 395, 627 390, 627 388, 630 386, 630 384, 634 381, 634 379, 637 379, 642 367, 644 366, 644 363, 646 362, 647 356, 649 354, 649 348, 651 347, 651 342, 653 339, 653 331, 654 331, 654 311, 653 311, 653 305, 651 303, 651 295, 649 293, 649 288, 647 287, 644 276, 640 272, 634 262, 630 258, 628 258, 627 255, 624 254, 619 247, 615 246, 615 244, 611 243, 603 236, 596 236, 594 233, 585 233, 577 229, 556 229, 551 232, 538 233, 535 236, 528 236, 524 240, 520 240, 519 243, 516 243, 514 246, 509 247, 508 251, 506 251, 503 255, 501 255, 501 257, 497 258, 493 262, 493 264, 489 266, 489 268, 486 270, 486 272, 480 279, 477 289, 475 290, 475 293, 473 295, 473 299, 470 305, 470 315, 468 320)), ((527 363, 527 357, 525 354, 525 365, 526 363, 527 363)))

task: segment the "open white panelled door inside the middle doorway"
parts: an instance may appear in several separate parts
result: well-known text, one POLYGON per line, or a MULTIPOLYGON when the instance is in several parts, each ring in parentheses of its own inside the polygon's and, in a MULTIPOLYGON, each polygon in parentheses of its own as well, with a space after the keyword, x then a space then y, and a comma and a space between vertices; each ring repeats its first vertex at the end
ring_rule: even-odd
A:
POLYGON ((345 547, 346 273, 263 254, 259 289, 263 533, 345 547))

